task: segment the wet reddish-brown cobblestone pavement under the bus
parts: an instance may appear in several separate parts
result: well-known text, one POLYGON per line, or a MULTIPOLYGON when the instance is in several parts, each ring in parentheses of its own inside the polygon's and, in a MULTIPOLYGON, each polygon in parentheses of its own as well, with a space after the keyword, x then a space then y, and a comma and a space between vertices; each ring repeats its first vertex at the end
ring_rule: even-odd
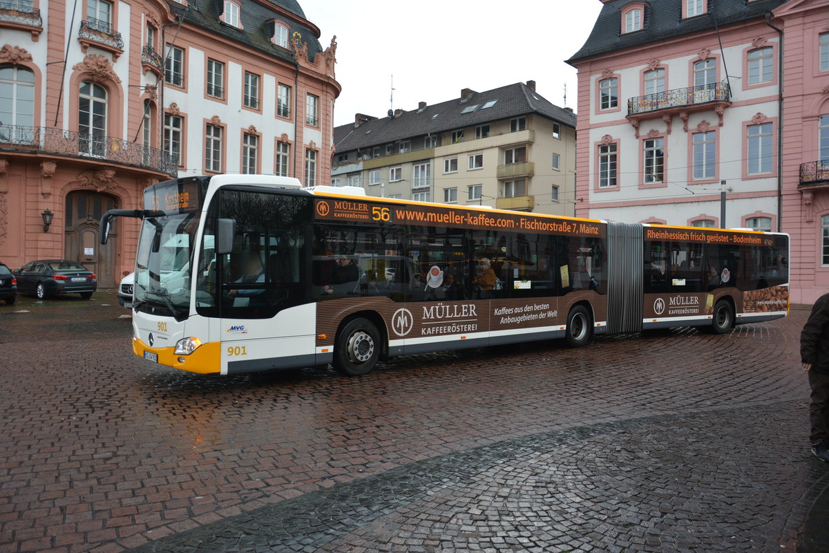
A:
POLYGON ((827 551, 806 311, 354 379, 173 372, 125 313, 0 306, 0 551, 827 551))

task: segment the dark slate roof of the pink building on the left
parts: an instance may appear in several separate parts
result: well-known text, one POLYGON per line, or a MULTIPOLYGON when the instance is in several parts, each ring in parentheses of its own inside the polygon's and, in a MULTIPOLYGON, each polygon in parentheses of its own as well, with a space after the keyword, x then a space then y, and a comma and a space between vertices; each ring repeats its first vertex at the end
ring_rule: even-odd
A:
MULTIPOLYGON (((313 61, 314 56, 322 51, 316 32, 311 27, 293 21, 286 21, 281 13, 258 2, 251 2, 250 0, 241 0, 241 2, 241 29, 225 25, 219 21, 219 16, 221 16, 224 9, 224 2, 221 0, 188 0, 187 7, 171 2, 170 7, 177 15, 183 15, 185 21, 190 25, 224 36, 227 41, 240 42, 246 46, 251 46, 293 65, 296 63, 293 60, 293 52, 276 46, 270 41, 271 31, 269 27, 271 26, 268 22, 272 19, 279 19, 288 23, 290 27, 288 29, 288 48, 291 46, 290 40, 293 32, 298 31, 303 36, 302 40, 308 42, 308 61, 313 61)), ((305 20, 305 13, 295 0, 271 0, 269 3, 283 7, 288 12, 292 12, 305 20)), ((168 34, 168 36, 170 35, 168 34)))

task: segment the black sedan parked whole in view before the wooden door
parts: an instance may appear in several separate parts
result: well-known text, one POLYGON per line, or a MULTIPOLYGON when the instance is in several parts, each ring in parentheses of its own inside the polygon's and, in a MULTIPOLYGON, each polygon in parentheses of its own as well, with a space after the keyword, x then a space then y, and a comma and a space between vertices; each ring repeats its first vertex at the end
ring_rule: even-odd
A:
POLYGON ((80 293, 81 298, 91 298, 98 289, 95 273, 77 261, 38 260, 22 266, 15 272, 17 291, 33 293, 46 298, 56 293, 80 293))

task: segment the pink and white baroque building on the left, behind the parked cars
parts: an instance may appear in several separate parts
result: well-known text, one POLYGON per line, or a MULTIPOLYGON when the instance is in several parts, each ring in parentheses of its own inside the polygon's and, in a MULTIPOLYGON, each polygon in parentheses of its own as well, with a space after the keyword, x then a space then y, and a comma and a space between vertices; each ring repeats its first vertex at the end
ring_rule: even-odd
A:
POLYGON ((337 42, 295 0, 0 2, 0 261, 77 260, 112 286, 154 182, 330 181, 337 42), (46 223, 49 224, 46 224, 46 223))

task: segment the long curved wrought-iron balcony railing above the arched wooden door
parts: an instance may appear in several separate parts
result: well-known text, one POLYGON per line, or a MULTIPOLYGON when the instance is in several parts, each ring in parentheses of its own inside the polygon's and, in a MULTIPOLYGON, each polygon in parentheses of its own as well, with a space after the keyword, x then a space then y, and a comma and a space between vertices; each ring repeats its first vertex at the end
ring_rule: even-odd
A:
POLYGON ((158 148, 95 133, 0 125, 0 151, 3 150, 99 159, 164 172, 171 177, 178 174, 177 160, 158 148))

